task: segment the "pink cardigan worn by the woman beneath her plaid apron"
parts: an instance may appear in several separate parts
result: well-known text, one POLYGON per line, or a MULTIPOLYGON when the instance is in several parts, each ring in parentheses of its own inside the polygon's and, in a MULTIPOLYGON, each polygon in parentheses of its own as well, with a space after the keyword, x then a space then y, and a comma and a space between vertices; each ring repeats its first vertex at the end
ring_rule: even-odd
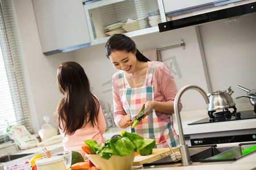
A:
MULTIPOLYGON (((153 63, 154 62, 148 62, 147 66, 149 67, 153 63)), ((123 72, 122 70, 120 71, 123 72)), ((120 71, 117 71, 117 73, 115 73, 112 78, 115 124, 117 124, 118 118, 126 115, 126 112, 122 107, 119 95, 119 87, 122 87, 120 85, 118 86, 118 74, 120 71)), ((171 103, 174 103, 174 99, 177 94, 177 86, 174 81, 174 76, 172 76, 168 67, 163 62, 159 62, 158 65, 155 66, 152 77, 152 86, 154 88, 155 101, 170 101, 171 103)), ((182 109, 181 101, 179 102, 179 109, 180 111, 182 109)), ((164 122, 173 122, 172 114, 156 111, 156 116, 158 116, 164 122)))

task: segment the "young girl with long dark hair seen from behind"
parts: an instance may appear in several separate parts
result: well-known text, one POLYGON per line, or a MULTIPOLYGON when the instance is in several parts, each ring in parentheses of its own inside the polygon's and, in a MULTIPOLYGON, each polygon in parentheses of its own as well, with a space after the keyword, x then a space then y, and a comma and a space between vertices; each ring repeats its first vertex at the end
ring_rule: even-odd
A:
POLYGON ((57 84, 64 95, 57 105, 56 117, 66 151, 85 152, 81 146, 92 139, 101 145, 106 122, 100 103, 90 92, 84 69, 76 62, 63 62, 57 69, 57 84))

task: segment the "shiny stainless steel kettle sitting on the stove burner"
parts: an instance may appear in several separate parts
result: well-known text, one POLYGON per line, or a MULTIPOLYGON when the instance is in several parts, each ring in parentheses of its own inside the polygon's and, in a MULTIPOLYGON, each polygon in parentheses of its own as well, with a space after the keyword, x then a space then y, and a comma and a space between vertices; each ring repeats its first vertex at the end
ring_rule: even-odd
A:
POLYGON ((232 91, 231 86, 228 88, 228 92, 224 91, 216 91, 208 94, 209 104, 207 107, 207 111, 216 111, 218 109, 228 109, 233 108, 236 104, 234 103, 231 95, 234 91, 232 91))

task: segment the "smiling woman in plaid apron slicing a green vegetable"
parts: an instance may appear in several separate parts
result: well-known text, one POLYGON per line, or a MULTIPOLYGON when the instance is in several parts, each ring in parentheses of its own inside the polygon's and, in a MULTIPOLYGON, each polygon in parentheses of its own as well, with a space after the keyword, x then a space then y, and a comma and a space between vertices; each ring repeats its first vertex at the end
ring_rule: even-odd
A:
MULTIPOLYGON (((168 67, 149 61, 135 42, 122 34, 110 37, 105 50, 115 69, 120 70, 112 78, 115 124, 120 128, 131 126, 131 117, 146 103, 145 108, 151 109, 131 131, 155 139, 158 148, 168 147, 168 143, 177 146, 179 138, 172 118, 177 87, 168 67)), ((181 111, 181 103, 179 108, 181 111)))

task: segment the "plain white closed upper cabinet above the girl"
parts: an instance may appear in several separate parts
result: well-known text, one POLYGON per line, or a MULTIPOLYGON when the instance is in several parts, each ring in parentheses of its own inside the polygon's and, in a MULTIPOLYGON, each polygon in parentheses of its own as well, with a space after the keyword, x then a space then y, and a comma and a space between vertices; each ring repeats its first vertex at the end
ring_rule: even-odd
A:
POLYGON ((43 53, 68 52, 90 46, 81 0, 32 0, 43 53))

